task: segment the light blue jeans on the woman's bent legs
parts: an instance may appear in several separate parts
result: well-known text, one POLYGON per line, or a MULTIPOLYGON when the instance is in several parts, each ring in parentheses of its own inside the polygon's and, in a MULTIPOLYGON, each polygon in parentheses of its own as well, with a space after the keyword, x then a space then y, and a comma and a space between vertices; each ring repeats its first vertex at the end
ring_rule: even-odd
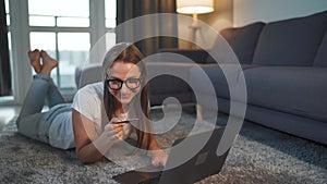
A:
POLYGON ((43 74, 34 75, 16 121, 19 132, 48 144, 49 127, 62 107, 66 107, 65 100, 52 78, 43 74), (48 101, 49 111, 41 112, 45 100, 48 101))

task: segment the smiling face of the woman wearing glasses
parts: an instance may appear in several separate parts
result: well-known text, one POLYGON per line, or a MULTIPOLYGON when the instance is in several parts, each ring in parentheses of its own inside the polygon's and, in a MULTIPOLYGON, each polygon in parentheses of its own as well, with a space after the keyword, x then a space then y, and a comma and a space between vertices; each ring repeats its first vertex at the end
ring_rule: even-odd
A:
MULTIPOLYGON (((124 83, 122 84, 120 89, 109 88, 108 90, 123 106, 129 105, 141 90, 141 86, 131 89, 131 87, 133 87, 134 85, 133 83, 135 83, 135 81, 137 81, 138 78, 141 78, 141 71, 136 64, 123 61, 114 61, 111 68, 108 70, 107 79, 117 79, 118 83, 124 83), (126 85, 126 83, 131 85, 129 86, 129 84, 126 85)), ((111 85, 116 85, 117 82, 113 81, 111 85)))

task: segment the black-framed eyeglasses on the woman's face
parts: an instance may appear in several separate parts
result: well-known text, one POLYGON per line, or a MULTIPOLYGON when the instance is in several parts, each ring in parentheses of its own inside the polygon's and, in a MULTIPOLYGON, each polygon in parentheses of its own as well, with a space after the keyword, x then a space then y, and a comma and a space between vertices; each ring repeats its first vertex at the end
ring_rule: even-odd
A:
POLYGON ((126 85, 129 89, 134 90, 140 87, 141 78, 128 78, 125 81, 114 78, 114 79, 106 79, 106 83, 108 84, 109 88, 112 90, 120 90, 122 88, 123 83, 126 85))

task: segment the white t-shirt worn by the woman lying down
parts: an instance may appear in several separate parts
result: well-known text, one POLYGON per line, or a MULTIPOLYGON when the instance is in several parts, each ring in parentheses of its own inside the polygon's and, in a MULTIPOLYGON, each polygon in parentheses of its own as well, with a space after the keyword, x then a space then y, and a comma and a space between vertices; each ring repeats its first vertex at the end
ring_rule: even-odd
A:
POLYGON ((81 88, 74 96, 72 108, 95 122, 97 135, 94 138, 100 135, 109 122, 104 106, 104 83, 94 83, 81 88))

